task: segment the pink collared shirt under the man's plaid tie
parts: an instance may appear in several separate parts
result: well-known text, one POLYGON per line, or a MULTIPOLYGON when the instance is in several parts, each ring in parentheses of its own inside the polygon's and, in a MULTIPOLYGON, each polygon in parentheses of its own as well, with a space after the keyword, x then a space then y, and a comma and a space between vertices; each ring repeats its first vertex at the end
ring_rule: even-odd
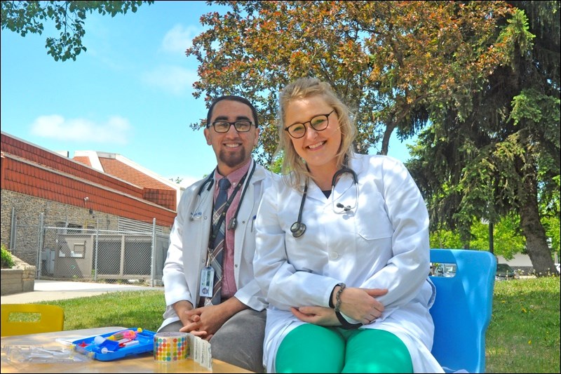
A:
MULTIPOLYGON (((243 175, 245 175, 245 173, 248 173, 250 169, 250 165, 251 165, 251 159, 244 166, 238 168, 238 170, 233 171, 226 176, 231 183, 231 186, 228 189, 228 199, 230 198, 232 192, 234 192, 234 189, 236 189, 236 186, 240 182, 241 178, 243 178, 243 175)), ((219 190, 218 182, 222 178, 224 177, 222 175, 219 175, 218 171, 215 171, 215 192, 214 192, 215 201, 218 196, 218 190, 219 190)), ((245 178, 245 183, 248 182, 249 182, 248 178, 245 178)), ((238 193, 234 197, 234 200, 232 201, 231 205, 228 208, 228 211, 226 212, 226 240, 224 241, 225 248, 222 254, 223 256, 222 289, 221 289, 222 300, 227 300, 231 298, 238 290, 236 288, 236 280, 234 279, 234 243, 235 243, 234 234, 236 230, 229 230, 228 226, 230 224, 231 219, 234 218, 234 215, 236 215, 236 211, 238 210, 238 206, 240 205, 240 197, 242 192, 243 192, 243 186, 241 186, 240 189, 238 190, 238 193)))

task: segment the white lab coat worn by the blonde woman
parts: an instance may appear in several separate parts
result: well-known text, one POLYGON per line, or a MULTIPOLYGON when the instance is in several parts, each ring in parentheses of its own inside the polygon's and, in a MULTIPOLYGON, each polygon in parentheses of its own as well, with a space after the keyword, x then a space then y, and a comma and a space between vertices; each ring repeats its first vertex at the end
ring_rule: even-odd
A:
MULTIPOLYGON (((356 189, 345 173, 329 199, 312 181, 304 203, 299 238, 296 222, 302 193, 281 178, 264 187, 257 212, 254 271, 269 302, 264 341, 267 373, 285 335, 302 324, 290 307, 329 307, 332 289, 388 288, 377 298, 382 316, 363 328, 397 335, 412 357, 416 373, 443 373, 431 354, 434 325, 428 309, 435 288, 428 279, 428 213, 417 185, 397 159, 355 154, 349 167, 358 177, 358 206, 343 214, 334 206, 353 206, 356 189), (334 201, 332 201, 334 199, 334 201)), ((351 322, 358 322, 349 319, 351 322)))

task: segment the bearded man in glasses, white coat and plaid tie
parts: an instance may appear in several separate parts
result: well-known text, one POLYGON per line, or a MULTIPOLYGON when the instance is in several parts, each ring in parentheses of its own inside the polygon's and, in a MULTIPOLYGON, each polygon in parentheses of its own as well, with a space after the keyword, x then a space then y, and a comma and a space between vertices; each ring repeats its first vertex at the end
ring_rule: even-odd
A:
POLYGON ((270 173, 251 157, 257 111, 245 98, 221 96, 208 109, 204 135, 217 167, 185 190, 177 208, 158 332, 200 336, 213 358, 262 373, 266 301, 253 276, 253 220, 270 173))

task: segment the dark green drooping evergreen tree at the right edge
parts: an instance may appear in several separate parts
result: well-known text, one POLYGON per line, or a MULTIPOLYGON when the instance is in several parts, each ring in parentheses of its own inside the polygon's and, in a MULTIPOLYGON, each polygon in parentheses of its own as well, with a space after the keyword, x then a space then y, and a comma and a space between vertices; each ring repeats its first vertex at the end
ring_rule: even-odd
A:
POLYGON ((560 1, 513 5, 494 46, 507 63, 473 93, 464 119, 452 107, 431 117, 408 166, 433 225, 458 227, 470 246, 473 217, 498 222, 514 212, 536 274, 556 274, 546 231, 560 214, 560 1))

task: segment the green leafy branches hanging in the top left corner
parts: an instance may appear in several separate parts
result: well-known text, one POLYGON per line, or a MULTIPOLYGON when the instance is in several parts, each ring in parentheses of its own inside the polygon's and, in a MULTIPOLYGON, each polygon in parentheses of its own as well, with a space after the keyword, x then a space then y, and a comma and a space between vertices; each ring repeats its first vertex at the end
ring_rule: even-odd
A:
POLYGON ((135 13, 143 3, 154 1, 1 1, 1 27, 17 32, 21 36, 43 34, 43 22, 52 20, 60 30, 58 39, 49 36, 46 39, 48 55, 55 61, 76 60, 76 56, 86 47, 82 38, 86 34, 83 28, 86 13, 97 11, 111 17, 127 11, 135 13))

